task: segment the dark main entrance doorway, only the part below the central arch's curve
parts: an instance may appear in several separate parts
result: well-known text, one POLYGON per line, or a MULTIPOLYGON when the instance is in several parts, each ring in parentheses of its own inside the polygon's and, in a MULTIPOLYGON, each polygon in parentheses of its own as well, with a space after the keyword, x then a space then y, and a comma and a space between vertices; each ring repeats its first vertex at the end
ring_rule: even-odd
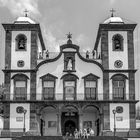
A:
POLYGON ((79 116, 77 112, 62 112, 61 117, 62 135, 74 135, 75 129, 79 128, 79 116))

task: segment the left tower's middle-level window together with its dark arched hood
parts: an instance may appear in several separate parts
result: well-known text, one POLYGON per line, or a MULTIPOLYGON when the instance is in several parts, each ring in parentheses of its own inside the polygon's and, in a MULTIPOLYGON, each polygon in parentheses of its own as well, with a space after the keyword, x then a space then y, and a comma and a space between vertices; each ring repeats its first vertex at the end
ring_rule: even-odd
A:
POLYGON ((24 74, 16 74, 12 77, 14 80, 14 100, 27 99, 27 79, 24 74))

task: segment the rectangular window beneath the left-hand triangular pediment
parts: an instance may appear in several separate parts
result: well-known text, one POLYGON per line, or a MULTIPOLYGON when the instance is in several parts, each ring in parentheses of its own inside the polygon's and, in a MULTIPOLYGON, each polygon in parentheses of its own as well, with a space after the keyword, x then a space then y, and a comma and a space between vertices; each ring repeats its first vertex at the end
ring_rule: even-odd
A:
POLYGON ((54 81, 43 82, 43 99, 54 99, 54 81))

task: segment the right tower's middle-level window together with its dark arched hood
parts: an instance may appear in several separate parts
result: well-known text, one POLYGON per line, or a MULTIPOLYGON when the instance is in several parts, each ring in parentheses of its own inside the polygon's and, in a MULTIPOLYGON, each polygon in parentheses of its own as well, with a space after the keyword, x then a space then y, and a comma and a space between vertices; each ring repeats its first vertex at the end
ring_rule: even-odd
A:
POLYGON ((124 100, 126 99, 126 79, 127 76, 123 74, 116 74, 112 76, 113 99, 124 100))

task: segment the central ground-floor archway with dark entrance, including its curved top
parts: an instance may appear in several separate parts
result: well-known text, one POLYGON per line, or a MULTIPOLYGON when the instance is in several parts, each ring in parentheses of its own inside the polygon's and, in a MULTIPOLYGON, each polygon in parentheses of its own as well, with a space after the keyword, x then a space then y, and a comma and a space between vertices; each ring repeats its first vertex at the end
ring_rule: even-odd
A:
POLYGON ((74 106, 65 106, 61 114, 62 135, 74 135, 76 128, 79 128, 78 110, 74 106))

